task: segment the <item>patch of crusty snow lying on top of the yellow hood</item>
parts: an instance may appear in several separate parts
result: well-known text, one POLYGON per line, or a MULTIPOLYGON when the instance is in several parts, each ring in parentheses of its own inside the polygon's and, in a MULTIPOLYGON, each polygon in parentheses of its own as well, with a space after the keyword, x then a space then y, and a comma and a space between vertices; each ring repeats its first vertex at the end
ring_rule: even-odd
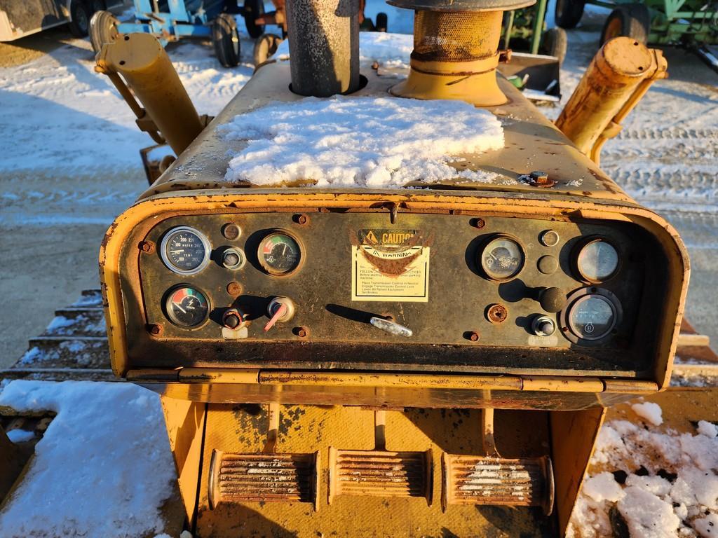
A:
POLYGON ((336 96, 274 103, 223 126, 229 140, 248 140, 225 179, 256 185, 401 187, 409 181, 461 177, 452 155, 503 147, 503 128, 487 110, 453 100, 336 96))

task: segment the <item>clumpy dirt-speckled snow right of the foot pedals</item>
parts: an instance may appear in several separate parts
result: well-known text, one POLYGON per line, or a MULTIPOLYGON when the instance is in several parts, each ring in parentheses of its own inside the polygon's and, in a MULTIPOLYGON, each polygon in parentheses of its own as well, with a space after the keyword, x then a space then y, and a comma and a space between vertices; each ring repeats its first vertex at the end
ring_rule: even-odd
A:
MULTIPOLYGON (((649 423, 663 422, 656 404, 632 408, 649 423)), ((701 420, 697 432, 604 425, 591 461, 598 472, 584 482, 567 536, 717 537, 718 428, 701 420)))

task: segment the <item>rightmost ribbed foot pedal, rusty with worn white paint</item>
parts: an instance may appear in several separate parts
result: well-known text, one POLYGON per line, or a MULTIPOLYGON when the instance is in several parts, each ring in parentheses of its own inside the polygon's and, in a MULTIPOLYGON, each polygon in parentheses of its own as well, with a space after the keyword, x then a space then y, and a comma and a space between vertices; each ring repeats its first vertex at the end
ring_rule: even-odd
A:
POLYGON ((551 460, 444 454, 444 505, 543 506, 554 498, 551 460))

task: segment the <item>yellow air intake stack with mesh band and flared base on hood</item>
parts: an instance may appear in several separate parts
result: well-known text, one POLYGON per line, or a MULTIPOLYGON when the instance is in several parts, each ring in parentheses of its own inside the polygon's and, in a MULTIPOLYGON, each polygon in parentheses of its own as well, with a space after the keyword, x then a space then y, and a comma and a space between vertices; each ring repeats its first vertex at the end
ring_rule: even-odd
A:
POLYGON ((503 11, 536 0, 387 0, 414 9, 409 78, 391 88, 398 97, 457 99, 502 105, 496 82, 503 11))

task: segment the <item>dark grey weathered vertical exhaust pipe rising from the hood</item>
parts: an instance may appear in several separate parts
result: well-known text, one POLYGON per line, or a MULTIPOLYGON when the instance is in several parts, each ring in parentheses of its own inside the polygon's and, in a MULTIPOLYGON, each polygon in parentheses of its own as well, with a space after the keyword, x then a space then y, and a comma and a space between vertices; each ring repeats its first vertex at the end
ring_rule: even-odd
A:
POLYGON ((359 89, 359 0, 289 0, 292 91, 330 97, 359 89))

